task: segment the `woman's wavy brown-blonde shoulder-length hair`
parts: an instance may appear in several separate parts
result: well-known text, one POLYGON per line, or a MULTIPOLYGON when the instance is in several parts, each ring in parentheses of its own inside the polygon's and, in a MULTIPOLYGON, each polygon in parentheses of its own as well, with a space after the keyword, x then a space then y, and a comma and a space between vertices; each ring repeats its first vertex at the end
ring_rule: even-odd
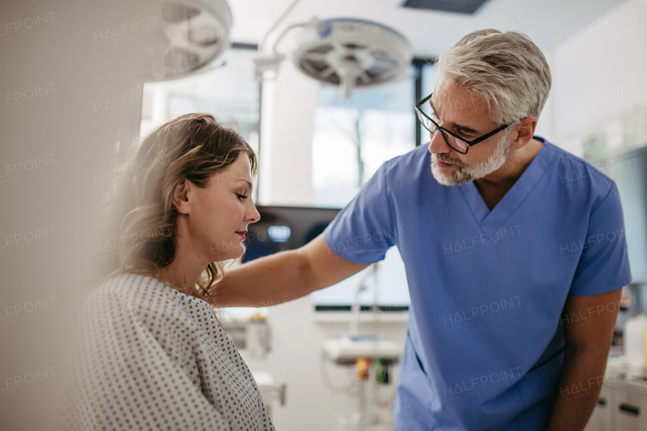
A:
MULTIPOLYGON (((203 113, 179 116, 133 142, 126 162, 118 167, 124 175, 116 182, 109 203, 111 236, 123 244, 118 268, 110 276, 129 272, 170 285, 162 267, 177 253, 175 187, 184 179, 208 186, 212 175, 230 166, 241 153, 248 155, 252 175, 256 175, 258 160, 252 147, 234 129, 203 113)), ((224 270, 223 262, 209 263, 192 295, 208 297, 215 305, 208 291, 223 278, 224 270)))

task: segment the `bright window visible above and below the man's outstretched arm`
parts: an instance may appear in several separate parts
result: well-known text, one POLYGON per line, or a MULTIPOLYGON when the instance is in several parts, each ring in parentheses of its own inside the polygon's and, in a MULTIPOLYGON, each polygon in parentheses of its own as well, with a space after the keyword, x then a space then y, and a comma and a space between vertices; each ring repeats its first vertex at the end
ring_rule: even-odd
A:
MULTIPOLYGON (((413 105, 432 93, 438 74, 433 62, 413 61, 412 78, 375 89, 356 89, 344 100, 336 87, 322 85, 314 113, 313 195, 315 206, 342 208, 386 160, 428 142, 413 105), (414 78, 415 77, 415 78, 414 78), (421 96, 422 94, 422 96, 421 96), (417 142, 418 141, 418 142, 417 142)), ((311 293, 317 309, 353 304, 399 309, 410 304, 404 262, 397 247, 384 260, 346 280, 311 293), (366 289, 358 292, 364 285, 366 289)))

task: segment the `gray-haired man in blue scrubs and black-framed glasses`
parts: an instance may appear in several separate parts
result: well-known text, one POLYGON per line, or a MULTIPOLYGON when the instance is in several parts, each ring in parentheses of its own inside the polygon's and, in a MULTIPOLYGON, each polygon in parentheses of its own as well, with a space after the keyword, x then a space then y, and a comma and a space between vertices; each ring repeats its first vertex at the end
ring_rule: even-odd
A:
POLYGON ((397 245, 397 429, 582 430, 631 281, 617 188, 533 136, 551 76, 530 39, 479 30, 437 67, 416 107, 429 146, 384 163, 308 245, 228 272, 216 300, 298 298, 397 245))

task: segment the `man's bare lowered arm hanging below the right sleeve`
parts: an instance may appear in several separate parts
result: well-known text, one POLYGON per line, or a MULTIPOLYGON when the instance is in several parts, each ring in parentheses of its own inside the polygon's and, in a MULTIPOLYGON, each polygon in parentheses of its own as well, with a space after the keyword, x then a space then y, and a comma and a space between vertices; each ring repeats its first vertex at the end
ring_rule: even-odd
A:
POLYGON ((564 365, 547 431, 582 431, 586 426, 604 382, 621 294, 618 289, 566 299, 564 365))

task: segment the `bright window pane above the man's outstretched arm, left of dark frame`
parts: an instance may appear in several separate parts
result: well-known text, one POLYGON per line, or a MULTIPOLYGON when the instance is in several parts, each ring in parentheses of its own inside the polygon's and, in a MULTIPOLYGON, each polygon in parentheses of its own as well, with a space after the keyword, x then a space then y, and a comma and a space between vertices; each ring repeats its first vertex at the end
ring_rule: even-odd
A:
MULTIPOLYGON (((412 74, 412 71, 410 71, 412 74)), ((321 85, 314 112, 313 203, 342 208, 386 160, 415 148, 414 81, 356 89, 321 85)))

